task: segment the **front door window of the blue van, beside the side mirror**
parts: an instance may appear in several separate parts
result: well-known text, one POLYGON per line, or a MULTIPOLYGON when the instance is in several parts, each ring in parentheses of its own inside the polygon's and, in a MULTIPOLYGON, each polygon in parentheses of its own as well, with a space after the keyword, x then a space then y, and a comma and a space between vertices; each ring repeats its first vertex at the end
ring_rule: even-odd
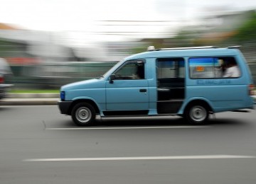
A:
POLYGON ((117 80, 145 79, 144 60, 129 61, 114 72, 117 80))

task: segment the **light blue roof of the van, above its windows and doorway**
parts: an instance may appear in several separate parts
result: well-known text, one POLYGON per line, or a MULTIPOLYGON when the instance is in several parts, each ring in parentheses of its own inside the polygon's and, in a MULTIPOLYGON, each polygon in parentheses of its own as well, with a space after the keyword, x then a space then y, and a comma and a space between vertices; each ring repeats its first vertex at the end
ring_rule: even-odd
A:
POLYGON ((154 57, 207 57, 207 56, 231 56, 237 55, 240 51, 238 46, 218 48, 214 46, 206 47, 180 47, 180 48, 164 48, 148 52, 134 54, 125 60, 154 58, 154 57))

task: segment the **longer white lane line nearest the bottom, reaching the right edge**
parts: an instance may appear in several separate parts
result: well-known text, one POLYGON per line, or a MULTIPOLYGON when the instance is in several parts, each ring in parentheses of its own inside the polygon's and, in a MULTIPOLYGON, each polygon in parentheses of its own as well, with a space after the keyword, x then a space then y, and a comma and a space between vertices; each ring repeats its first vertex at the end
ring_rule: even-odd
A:
POLYGON ((131 156, 99 158, 25 159, 23 161, 132 161, 132 160, 181 160, 181 159, 255 159, 242 155, 194 155, 194 156, 131 156))

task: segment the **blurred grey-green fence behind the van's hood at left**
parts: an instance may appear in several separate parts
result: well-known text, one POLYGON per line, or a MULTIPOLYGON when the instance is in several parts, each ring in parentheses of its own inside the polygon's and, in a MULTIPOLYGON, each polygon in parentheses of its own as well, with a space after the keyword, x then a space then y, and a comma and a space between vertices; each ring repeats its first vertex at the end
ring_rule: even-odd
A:
POLYGON ((11 66, 6 83, 14 88, 60 88, 75 81, 97 78, 117 62, 65 62, 11 66))

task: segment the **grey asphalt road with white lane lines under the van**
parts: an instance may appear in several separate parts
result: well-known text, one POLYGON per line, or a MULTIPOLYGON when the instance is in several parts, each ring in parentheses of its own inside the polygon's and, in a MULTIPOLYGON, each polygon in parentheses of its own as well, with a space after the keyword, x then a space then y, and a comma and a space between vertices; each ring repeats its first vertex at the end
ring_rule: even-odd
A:
POLYGON ((0 183, 255 183, 256 113, 79 128, 57 106, 0 107, 0 183))

